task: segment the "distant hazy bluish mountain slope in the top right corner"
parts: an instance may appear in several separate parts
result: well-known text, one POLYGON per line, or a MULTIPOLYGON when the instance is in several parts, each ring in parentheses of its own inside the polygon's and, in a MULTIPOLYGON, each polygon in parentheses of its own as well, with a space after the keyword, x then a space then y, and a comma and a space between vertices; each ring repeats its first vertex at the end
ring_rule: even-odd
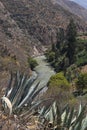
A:
POLYGON ((82 6, 80 6, 79 4, 70 0, 52 0, 52 1, 61 5, 64 9, 68 10, 69 12, 72 12, 81 19, 87 21, 87 10, 82 6))

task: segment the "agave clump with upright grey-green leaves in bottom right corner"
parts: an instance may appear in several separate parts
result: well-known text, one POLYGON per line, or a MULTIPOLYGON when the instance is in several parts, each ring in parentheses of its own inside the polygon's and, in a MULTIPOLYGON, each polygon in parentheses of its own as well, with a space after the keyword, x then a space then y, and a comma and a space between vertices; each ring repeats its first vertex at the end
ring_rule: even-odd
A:
POLYGON ((70 109, 69 105, 60 113, 56 102, 53 103, 49 108, 43 107, 40 111, 40 116, 44 117, 44 120, 39 121, 49 122, 48 126, 52 127, 53 130, 87 130, 87 116, 85 116, 86 106, 80 104, 78 114, 73 107, 70 109))

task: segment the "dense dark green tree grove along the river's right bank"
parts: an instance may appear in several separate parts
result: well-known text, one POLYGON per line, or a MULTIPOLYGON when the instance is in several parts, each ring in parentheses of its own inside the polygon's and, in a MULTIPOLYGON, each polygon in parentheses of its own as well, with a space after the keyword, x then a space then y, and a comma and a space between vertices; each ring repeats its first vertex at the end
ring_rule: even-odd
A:
POLYGON ((87 64, 87 41, 77 37, 76 25, 72 19, 66 31, 58 29, 57 42, 52 43, 51 49, 45 53, 56 72, 66 73, 67 68, 73 64, 77 67, 87 64))

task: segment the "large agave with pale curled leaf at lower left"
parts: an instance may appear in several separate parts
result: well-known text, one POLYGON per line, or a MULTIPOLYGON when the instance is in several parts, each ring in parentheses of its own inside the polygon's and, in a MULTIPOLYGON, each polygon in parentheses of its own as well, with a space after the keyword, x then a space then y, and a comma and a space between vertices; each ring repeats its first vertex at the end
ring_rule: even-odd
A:
POLYGON ((28 78, 19 72, 15 76, 11 73, 5 95, 2 97, 2 105, 5 109, 9 108, 10 114, 25 105, 27 105, 29 113, 42 102, 41 100, 35 102, 35 98, 45 86, 39 89, 39 82, 35 81, 36 77, 34 76, 28 78))

